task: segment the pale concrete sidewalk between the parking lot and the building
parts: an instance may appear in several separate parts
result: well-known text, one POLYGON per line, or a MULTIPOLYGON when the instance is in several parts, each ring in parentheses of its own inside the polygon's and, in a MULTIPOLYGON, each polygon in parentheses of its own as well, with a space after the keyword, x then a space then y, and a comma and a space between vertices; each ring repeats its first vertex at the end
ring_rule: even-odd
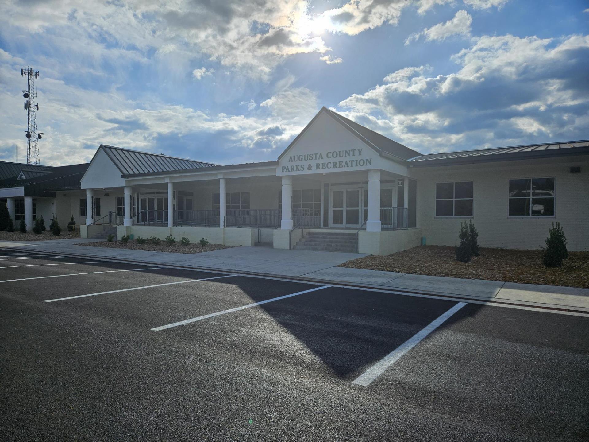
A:
POLYGON ((4 241, 0 242, 0 247, 66 253, 90 258, 137 260, 153 264, 263 273, 332 283, 352 283, 372 288, 399 289, 399 291, 411 293, 450 296, 453 299, 468 298, 501 305, 573 309, 589 314, 589 289, 337 267, 350 259, 366 256, 362 253, 281 250, 256 246, 186 254, 75 245, 84 242, 95 242, 95 239, 4 241))

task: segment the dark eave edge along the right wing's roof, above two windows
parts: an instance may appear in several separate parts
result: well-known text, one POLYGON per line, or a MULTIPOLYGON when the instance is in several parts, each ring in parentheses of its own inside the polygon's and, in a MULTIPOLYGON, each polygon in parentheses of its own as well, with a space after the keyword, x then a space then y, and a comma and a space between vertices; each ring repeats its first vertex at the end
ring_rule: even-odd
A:
POLYGON ((477 163, 495 163, 497 161, 518 161, 518 160, 535 160, 542 158, 554 157, 572 157, 580 155, 589 155, 587 147, 570 147, 565 150, 541 150, 527 151, 517 153, 503 153, 488 156, 458 157, 448 159, 431 159, 431 160, 413 160, 409 161, 409 167, 416 169, 418 167, 436 167, 436 166, 458 166, 460 164, 477 164, 477 163))

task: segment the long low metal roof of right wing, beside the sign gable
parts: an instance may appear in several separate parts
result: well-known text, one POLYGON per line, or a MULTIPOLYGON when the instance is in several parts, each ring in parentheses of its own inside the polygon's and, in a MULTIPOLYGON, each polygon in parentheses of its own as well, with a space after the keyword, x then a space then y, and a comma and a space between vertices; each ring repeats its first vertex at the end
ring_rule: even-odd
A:
POLYGON ((575 155, 589 155, 589 140, 431 153, 414 157, 409 161, 413 163, 411 167, 427 167, 575 155))

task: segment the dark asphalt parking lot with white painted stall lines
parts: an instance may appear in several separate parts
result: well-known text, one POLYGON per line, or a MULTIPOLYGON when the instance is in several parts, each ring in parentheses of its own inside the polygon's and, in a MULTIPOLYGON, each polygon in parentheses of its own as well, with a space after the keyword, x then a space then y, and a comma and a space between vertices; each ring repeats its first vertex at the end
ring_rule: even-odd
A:
POLYGON ((585 317, 8 249, 0 306, 2 441, 589 438, 585 317))

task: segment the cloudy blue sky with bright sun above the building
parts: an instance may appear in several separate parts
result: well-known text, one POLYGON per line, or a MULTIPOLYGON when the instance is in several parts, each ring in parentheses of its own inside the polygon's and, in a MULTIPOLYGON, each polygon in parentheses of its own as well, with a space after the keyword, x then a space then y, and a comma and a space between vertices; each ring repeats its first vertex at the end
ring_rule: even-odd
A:
POLYGON ((0 160, 276 160, 322 106, 421 153, 589 138, 588 0, 0 0, 0 160))

